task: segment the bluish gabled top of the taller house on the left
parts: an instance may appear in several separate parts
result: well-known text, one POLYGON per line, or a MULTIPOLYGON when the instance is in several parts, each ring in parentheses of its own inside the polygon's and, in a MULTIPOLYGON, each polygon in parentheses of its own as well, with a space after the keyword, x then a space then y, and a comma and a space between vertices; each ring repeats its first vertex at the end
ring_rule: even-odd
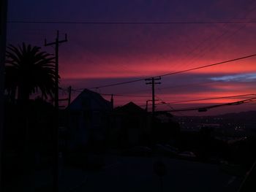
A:
POLYGON ((110 101, 105 100, 99 93, 84 89, 67 107, 67 110, 111 110, 110 101))

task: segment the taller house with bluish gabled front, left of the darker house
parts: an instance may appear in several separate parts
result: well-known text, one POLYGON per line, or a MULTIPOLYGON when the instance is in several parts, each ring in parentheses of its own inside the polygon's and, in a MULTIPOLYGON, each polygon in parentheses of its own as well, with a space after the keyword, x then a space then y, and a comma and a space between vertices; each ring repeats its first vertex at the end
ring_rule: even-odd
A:
POLYGON ((84 89, 67 107, 67 147, 100 145, 105 141, 112 104, 99 93, 84 89))

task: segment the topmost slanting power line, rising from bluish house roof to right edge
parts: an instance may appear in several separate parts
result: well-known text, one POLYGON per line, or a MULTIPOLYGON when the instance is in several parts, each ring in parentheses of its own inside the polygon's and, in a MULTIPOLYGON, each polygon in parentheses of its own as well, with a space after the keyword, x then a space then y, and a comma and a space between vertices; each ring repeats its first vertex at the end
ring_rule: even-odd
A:
MULTIPOLYGON (((157 75, 157 76, 154 76, 154 77, 165 77, 165 76, 169 76, 169 75, 173 75, 173 74, 191 72, 191 71, 194 71, 194 70, 197 70, 197 69, 203 69, 203 68, 210 67, 210 66, 217 66, 217 65, 220 65, 220 64, 227 64, 227 63, 230 63, 230 62, 233 62, 233 61, 238 61, 238 60, 242 60, 242 59, 245 59, 245 58, 252 58, 252 57, 255 57, 255 56, 256 56, 256 54, 247 55, 247 56, 244 56, 244 57, 234 58, 234 59, 231 59, 231 60, 222 61, 222 62, 218 62, 218 63, 215 63, 215 64, 208 64, 208 65, 205 65, 205 66, 198 66, 198 67, 195 67, 195 68, 185 69, 185 70, 178 71, 178 72, 170 72, 170 73, 167 73, 167 74, 157 75)), ((137 79, 137 80, 129 80, 129 81, 124 81, 124 82, 116 82, 116 83, 107 84, 107 85, 99 85, 97 87, 93 87, 93 88, 89 88, 89 89, 107 88, 107 87, 113 87, 113 86, 116 86, 116 85, 124 85, 124 84, 132 83, 132 82, 140 82, 140 81, 143 81, 145 79, 154 78, 154 77, 140 78, 140 79, 137 79)))

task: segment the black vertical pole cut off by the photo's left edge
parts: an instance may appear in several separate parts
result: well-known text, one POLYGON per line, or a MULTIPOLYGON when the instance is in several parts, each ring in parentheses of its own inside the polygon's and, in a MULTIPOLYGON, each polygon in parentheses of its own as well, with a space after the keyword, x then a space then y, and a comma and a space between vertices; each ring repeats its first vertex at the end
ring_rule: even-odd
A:
POLYGON ((7 32, 7 0, 0 1, 0 191, 3 191, 4 62, 7 32))

